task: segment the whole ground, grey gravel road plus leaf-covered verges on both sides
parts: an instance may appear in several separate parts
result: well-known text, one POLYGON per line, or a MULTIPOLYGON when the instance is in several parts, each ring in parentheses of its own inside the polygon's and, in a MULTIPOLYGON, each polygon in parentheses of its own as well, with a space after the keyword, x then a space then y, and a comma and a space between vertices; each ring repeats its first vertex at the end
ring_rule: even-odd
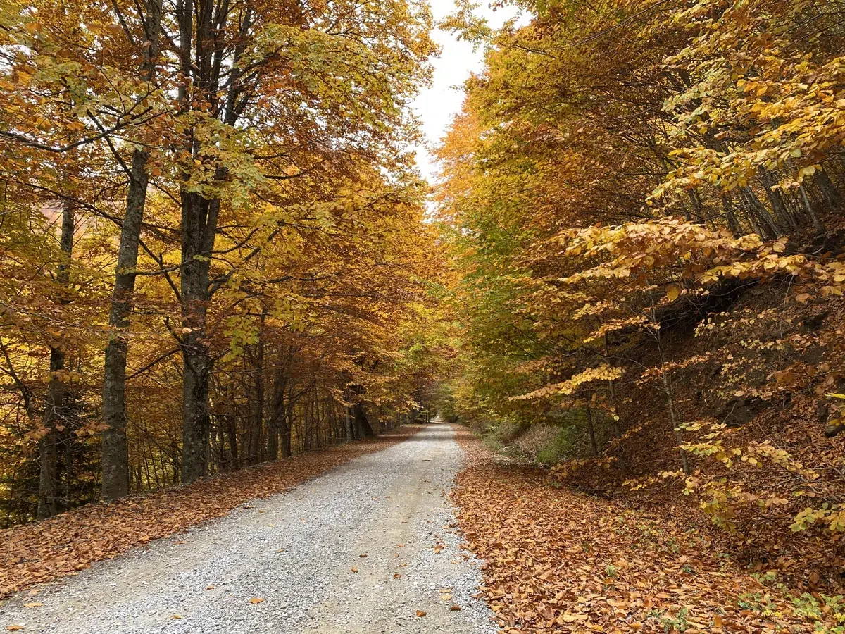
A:
POLYGON ((4 536, 7 583, 18 541, 31 559, 11 565, 40 571, 27 586, 65 570, 40 554, 67 552, 78 566, 124 554, 11 594, 0 627, 840 634, 845 623, 841 597, 788 588, 743 563, 689 506, 564 489, 441 424, 51 522, 4 536), (133 527, 139 535, 109 541, 133 527))

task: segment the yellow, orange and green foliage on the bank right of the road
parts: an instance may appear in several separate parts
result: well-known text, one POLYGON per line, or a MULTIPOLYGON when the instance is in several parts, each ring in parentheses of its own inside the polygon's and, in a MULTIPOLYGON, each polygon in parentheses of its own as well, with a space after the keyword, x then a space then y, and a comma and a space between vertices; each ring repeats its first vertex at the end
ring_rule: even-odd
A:
POLYGON ((486 67, 439 150, 444 402, 561 483, 688 504, 839 588, 841 3, 520 6, 448 21, 486 67))

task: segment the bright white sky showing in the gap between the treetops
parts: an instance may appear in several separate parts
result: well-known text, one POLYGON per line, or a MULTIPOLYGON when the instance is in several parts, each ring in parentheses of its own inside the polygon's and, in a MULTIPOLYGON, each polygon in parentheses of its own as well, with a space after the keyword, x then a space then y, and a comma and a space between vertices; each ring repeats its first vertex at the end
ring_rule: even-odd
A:
MULTIPOLYGON (((455 8, 453 0, 429 0, 429 4, 435 20, 443 19, 455 8)), ((484 1, 479 13, 493 28, 498 28, 506 19, 515 16, 516 11, 510 7, 493 11, 484 1)), ((423 90, 413 105, 414 112, 423 121, 423 134, 429 147, 438 144, 452 118, 461 111, 464 80, 483 68, 482 51, 473 52, 469 42, 458 41, 439 29, 434 30, 432 36, 442 49, 440 57, 433 60, 433 85, 423 90)), ((417 148, 417 165, 423 177, 428 178, 429 183, 433 182, 436 167, 427 147, 417 148)))

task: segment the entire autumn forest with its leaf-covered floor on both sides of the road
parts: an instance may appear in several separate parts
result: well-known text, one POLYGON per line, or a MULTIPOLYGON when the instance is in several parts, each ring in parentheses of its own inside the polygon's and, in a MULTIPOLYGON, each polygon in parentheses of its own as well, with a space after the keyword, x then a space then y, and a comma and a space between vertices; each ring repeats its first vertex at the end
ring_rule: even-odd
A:
POLYGON ((504 631, 845 631, 845 3, 485 7, 0 0, 0 595, 437 413, 504 631))

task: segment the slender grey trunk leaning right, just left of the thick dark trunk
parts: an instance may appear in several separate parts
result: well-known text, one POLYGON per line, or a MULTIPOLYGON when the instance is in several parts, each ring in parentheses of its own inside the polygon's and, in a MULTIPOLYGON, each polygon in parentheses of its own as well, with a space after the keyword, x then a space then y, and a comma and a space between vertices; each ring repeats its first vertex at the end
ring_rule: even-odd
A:
MULTIPOLYGON (((141 68, 145 79, 151 82, 155 74, 155 58, 161 31, 161 0, 146 3, 144 20, 144 64, 141 68)), ((106 346, 103 371, 102 420, 102 489, 104 500, 114 500, 129 492, 129 455, 126 440, 126 354, 129 314, 135 290, 135 266, 138 264, 138 247, 141 224, 144 220, 150 155, 136 147, 132 153, 129 189, 126 194, 126 214, 120 232, 117 250, 112 307, 109 311, 109 328, 112 334, 106 346)))

